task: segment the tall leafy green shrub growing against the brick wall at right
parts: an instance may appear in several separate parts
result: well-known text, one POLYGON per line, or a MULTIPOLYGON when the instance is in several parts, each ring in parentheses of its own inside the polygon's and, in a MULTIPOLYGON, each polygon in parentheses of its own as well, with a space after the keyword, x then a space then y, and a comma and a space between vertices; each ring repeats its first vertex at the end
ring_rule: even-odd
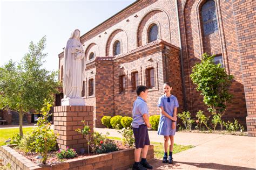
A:
MULTIPOLYGON (((221 116, 227 110, 227 103, 233 97, 228 88, 231 86, 233 75, 227 75, 221 65, 215 65, 214 55, 203 54, 203 60, 197 63, 190 75, 197 91, 204 96, 203 102, 207 105, 208 111, 212 114, 218 112, 221 116)), ((222 129, 221 124, 221 129, 222 129)))

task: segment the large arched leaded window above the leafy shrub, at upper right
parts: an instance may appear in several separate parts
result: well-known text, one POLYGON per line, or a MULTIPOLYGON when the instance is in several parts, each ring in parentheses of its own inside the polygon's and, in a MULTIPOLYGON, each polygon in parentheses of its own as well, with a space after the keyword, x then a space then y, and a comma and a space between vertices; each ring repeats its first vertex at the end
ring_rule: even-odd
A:
POLYGON ((212 34, 218 31, 218 22, 216 15, 215 2, 207 1, 201 8, 201 17, 204 26, 204 35, 212 34))

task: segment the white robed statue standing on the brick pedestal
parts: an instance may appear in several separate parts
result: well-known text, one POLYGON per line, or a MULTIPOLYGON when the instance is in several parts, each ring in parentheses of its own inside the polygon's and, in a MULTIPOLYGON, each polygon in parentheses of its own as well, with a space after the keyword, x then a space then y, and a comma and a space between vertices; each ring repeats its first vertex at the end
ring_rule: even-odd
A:
POLYGON ((84 57, 84 49, 80 42, 80 31, 75 30, 72 32, 71 37, 66 43, 64 51, 64 98, 62 100, 62 105, 85 105, 81 96, 84 72, 82 61, 84 57))

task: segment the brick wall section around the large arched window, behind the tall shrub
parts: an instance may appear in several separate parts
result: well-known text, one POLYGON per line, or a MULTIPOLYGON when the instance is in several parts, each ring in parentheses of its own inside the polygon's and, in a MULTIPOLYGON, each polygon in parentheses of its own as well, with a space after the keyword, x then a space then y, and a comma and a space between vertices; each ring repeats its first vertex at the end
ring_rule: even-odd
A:
POLYGON ((232 11, 232 1, 218 1, 216 11, 218 17, 218 32, 204 36, 200 18, 200 6, 205 1, 179 1, 179 15, 181 27, 181 39, 184 58, 186 100, 188 110, 192 114, 201 109, 207 112, 203 103, 203 97, 196 91, 192 84, 190 74, 196 62, 200 62, 201 54, 222 54, 226 72, 234 75, 234 81, 230 88, 234 95, 224 117, 237 118, 245 123, 246 107, 241 82, 241 69, 239 61, 238 42, 235 39, 235 22, 232 11), (223 20, 223 22, 221 22, 223 20))

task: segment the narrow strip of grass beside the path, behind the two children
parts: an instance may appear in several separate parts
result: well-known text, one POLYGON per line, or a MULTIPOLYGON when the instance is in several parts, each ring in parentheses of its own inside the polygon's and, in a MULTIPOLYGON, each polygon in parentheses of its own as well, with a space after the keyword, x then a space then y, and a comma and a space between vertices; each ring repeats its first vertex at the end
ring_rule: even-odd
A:
MULTIPOLYGON (((115 140, 121 140, 121 138, 118 138, 118 137, 107 137, 109 139, 115 139, 115 140)), ((163 158, 163 155, 164 155, 164 144, 163 143, 158 143, 158 142, 153 142, 151 141, 151 144, 154 145, 154 157, 155 158, 163 158)), ((173 154, 174 153, 178 153, 178 152, 182 152, 182 151, 186 151, 190 148, 192 148, 194 146, 192 145, 187 145, 187 146, 184 146, 184 145, 176 145, 174 144, 173 146, 173 154)))

